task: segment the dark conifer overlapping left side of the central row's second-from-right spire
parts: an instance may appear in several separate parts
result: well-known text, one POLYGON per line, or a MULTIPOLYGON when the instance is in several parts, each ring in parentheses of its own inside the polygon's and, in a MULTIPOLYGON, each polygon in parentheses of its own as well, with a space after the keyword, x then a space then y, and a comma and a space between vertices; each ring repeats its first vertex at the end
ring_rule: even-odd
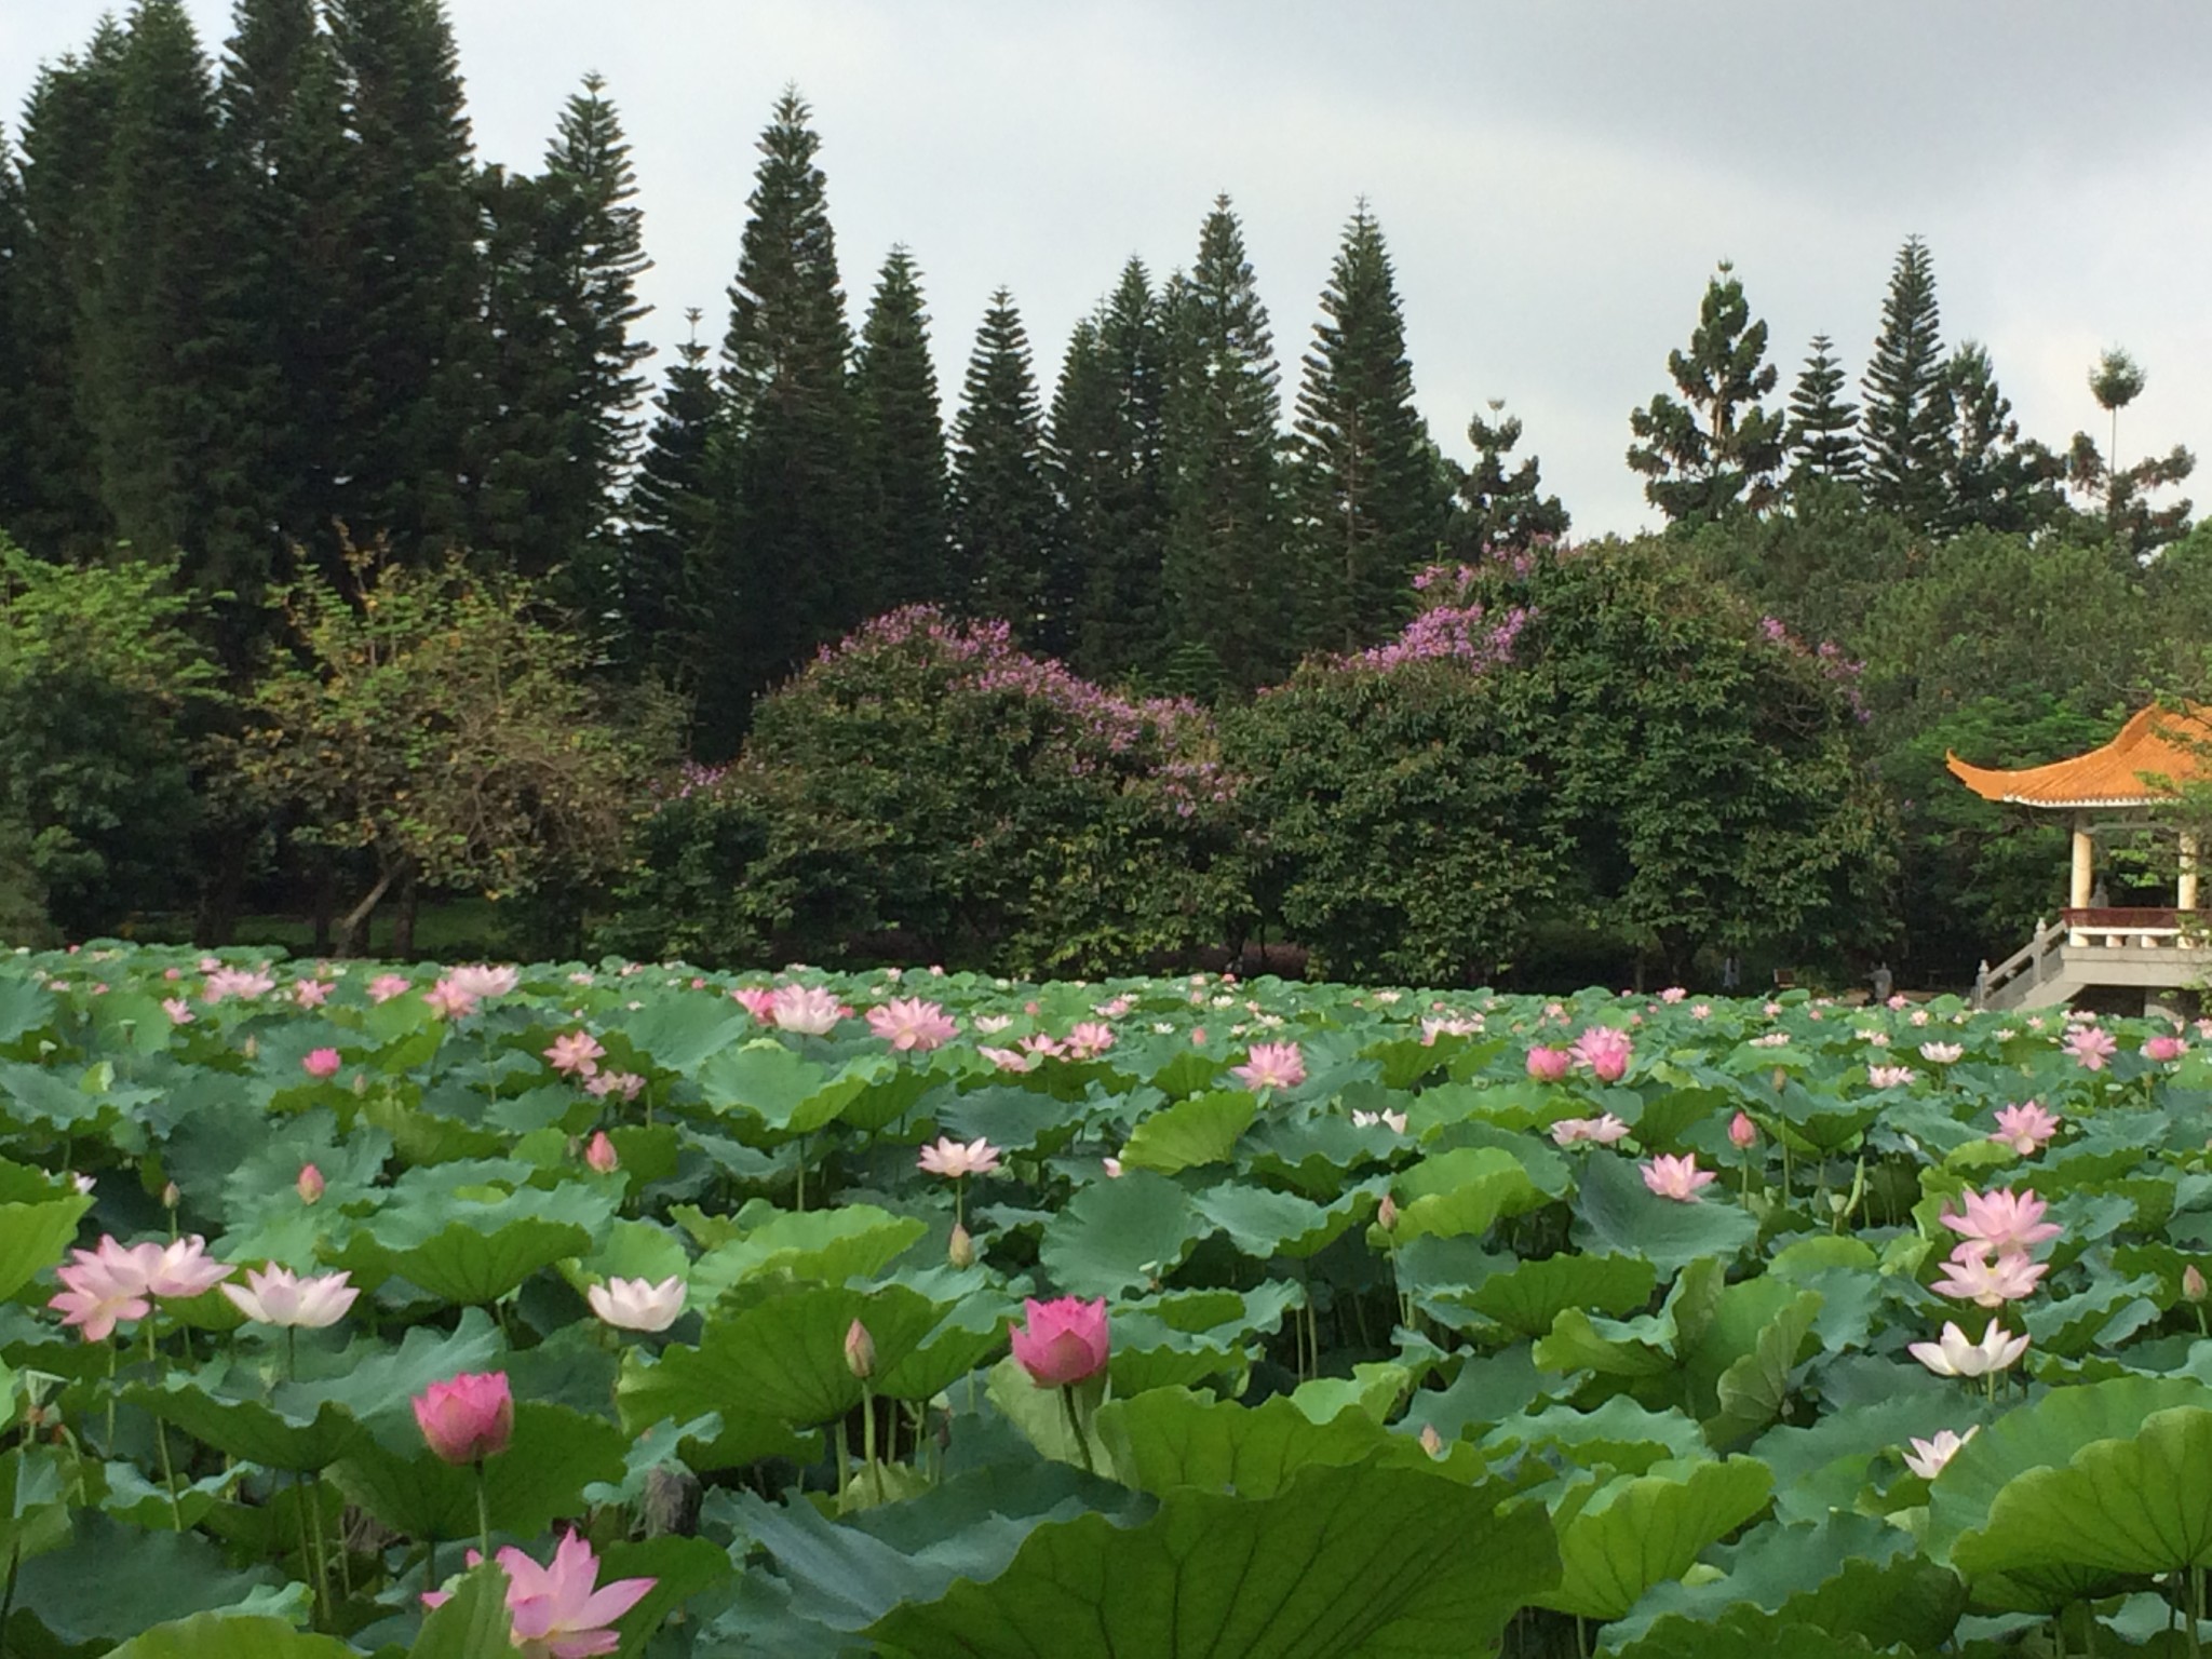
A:
POLYGON ((1161 303, 1144 261, 1130 259, 1113 294, 1077 323, 1053 394, 1053 478, 1075 586, 1068 655, 1097 681, 1164 657, 1166 352, 1161 303))

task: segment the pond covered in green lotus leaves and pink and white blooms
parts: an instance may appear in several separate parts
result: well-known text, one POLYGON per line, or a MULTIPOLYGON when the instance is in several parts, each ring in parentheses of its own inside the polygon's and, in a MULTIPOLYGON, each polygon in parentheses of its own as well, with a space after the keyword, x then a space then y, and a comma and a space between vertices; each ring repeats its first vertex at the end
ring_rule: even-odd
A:
POLYGON ((0 1646, 2194 1655, 2208 1141, 2064 1011, 0 958, 0 1646))

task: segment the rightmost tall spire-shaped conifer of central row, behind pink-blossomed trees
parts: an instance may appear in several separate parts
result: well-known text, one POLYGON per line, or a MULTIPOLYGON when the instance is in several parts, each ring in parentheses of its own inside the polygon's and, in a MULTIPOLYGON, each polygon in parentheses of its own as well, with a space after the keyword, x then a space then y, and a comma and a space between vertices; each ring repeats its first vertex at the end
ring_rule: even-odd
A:
POLYGON ((1321 294, 1298 389, 1296 511, 1307 648, 1356 650, 1398 630, 1411 577, 1449 511, 1383 228, 1363 201, 1321 294))

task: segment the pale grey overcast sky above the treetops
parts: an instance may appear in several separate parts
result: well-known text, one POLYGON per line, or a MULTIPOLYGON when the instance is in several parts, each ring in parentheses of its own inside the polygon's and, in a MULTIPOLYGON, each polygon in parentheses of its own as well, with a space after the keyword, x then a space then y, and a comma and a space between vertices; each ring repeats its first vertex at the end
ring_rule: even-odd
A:
MULTIPOLYGON (((2084 378, 2150 387, 2121 453, 2212 449, 2212 7, 2174 0, 447 0, 478 153, 535 166, 586 71, 628 128, 657 343, 719 338, 754 142, 814 106, 858 323, 920 263, 947 418, 989 292, 1051 396, 1130 254, 1190 261, 1230 192, 1296 396, 1354 201, 1398 270, 1420 407, 1458 458, 1506 398, 1577 533, 1657 515, 1628 409, 1730 259, 1781 392, 1827 332, 1856 383, 1907 234, 1944 341, 1980 338, 2028 434, 2104 431, 2084 378)), ((0 111, 106 7, 0 0, 0 111)), ((210 51, 228 0, 190 0, 210 51)), ((661 367, 661 358, 655 367, 661 367)), ((2101 442, 2101 438, 2099 438, 2101 442)), ((2212 482, 2197 495, 2212 500, 2212 482)))

